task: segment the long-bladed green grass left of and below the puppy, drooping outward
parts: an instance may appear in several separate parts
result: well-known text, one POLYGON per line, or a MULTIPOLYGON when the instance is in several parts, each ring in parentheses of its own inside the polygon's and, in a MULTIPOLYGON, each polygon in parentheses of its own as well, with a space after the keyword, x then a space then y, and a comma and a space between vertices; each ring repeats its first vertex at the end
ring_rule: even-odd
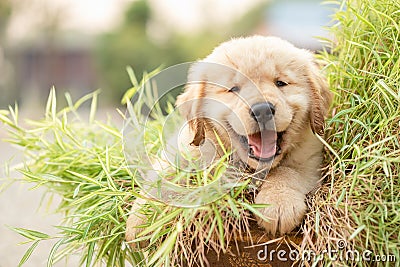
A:
MULTIPOLYGON (((138 84, 133 72, 130 69, 128 72, 135 86, 127 95, 136 93, 140 101, 135 105, 125 101, 127 112, 120 114, 132 131, 130 135, 135 136, 133 139, 124 140, 123 131, 110 121, 95 120, 97 92, 75 104, 67 95, 69 105, 58 111, 55 90, 51 90, 44 118, 27 121, 26 128, 20 126, 17 107, 0 113, 0 121, 9 126, 7 141, 23 148, 25 153, 25 167, 19 170, 24 175, 23 181, 35 187, 44 186, 50 194, 62 198, 56 210, 64 214, 63 223, 56 226, 58 235, 13 228, 31 243, 20 265, 27 262, 40 241, 49 239, 55 244, 49 253, 48 266, 71 254, 80 254, 85 266, 178 266, 194 262, 202 265, 207 249, 226 252, 228 243, 249 232, 250 212, 258 213, 257 208, 262 206, 248 200, 251 177, 243 177, 242 182, 217 199, 204 190, 194 190, 200 202, 207 203, 200 207, 174 207, 149 201, 141 210, 148 225, 133 241, 147 241, 148 245, 142 250, 132 250, 124 241, 125 223, 133 201, 146 198, 140 194, 140 188, 143 173, 149 167, 140 157, 146 151, 139 141, 144 139, 150 146, 150 157, 157 157, 165 121, 161 109, 156 108, 153 119, 143 123, 143 105, 153 102, 151 88, 145 83, 138 84), (77 111, 86 101, 91 101, 91 109, 89 119, 84 121, 77 111), (129 161, 124 154, 125 141, 138 141, 133 145, 136 153, 129 161), (197 249, 192 250, 193 247, 197 249)), ((227 159, 223 158, 194 176, 179 172, 175 175, 202 186, 212 184, 217 173, 228 172, 227 159)))

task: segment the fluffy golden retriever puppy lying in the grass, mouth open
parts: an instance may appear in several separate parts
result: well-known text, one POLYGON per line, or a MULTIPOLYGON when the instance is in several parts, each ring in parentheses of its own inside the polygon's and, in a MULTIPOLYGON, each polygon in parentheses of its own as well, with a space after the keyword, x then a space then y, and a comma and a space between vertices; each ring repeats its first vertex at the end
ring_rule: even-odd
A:
MULTIPOLYGON (((259 225, 272 234, 293 230, 320 180, 316 134, 331 100, 313 54, 276 37, 233 39, 193 64, 188 80, 176 102, 188 125, 179 146, 218 157, 220 146, 209 145, 218 135, 233 164, 261 175, 255 202, 270 205, 260 210, 269 221, 259 225)), ((128 240, 138 221, 133 211, 128 240)))

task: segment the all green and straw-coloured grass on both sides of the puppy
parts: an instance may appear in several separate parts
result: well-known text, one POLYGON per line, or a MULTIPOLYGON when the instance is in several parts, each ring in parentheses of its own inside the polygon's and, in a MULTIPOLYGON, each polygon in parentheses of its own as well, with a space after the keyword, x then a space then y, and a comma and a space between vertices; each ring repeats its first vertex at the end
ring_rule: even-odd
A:
MULTIPOLYGON (((335 93, 326 141, 321 140, 326 145, 325 183, 308 198, 310 211, 297 248, 319 254, 317 260, 304 261, 306 266, 399 266, 400 2, 334 3, 338 10, 330 31, 335 41, 326 41, 330 53, 320 55, 335 93), (338 248, 341 253, 335 255, 340 262, 324 253, 338 248), (367 250, 371 258, 393 255, 397 261, 346 259, 346 251, 367 250)), ((151 88, 129 73, 134 87, 124 98, 127 113, 120 114, 137 129, 133 135, 138 140, 154 144, 147 149, 157 156, 165 116, 157 108, 153 120, 141 123, 143 105, 152 101, 151 88), (134 94, 140 101, 131 105, 126 100, 134 94)), ((57 212, 65 215, 56 236, 14 229, 31 243, 21 264, 41 240, 52 239, 48 266, 73 253, 81 255, 86 266, 205 265, 207 249, 226 252, 229 242, 249 233, 251 214, 258 206, 252 204, 250 177, 243 177, 216 201, 207 202, 210 196, 200 194, 208 203, 202 207, 150 201, 141 211, 149 223, 135 241, 145 240, 148 246, 131 249, 124 242, 125 222, 133 201, 145 197, 140 194, 140 170, 146 166, 140 156, 126 161, 118 127, 111 121, 96 121, 97 97, 95 92, 74 104, 67 95, 68 106, 59 109, 51 91, 44 118, 28 121, 27 128, 20 125, 17 108, 0 112, 0 121, 10 129, 8 141, 24 149, 24 181, 60 195, 57 212), (88 120, 76 115, 85 101, 92 107, 88 120)), ((134 147, 137 155, 143 152, 143 146, 134 147)), ((221 160, 198 173, 201 179, 195 182, 212 183, 215 178, 209 174, 227 172, 226 163, 221 160)), ((184 178, 193 182, 193 176, 184 178)))

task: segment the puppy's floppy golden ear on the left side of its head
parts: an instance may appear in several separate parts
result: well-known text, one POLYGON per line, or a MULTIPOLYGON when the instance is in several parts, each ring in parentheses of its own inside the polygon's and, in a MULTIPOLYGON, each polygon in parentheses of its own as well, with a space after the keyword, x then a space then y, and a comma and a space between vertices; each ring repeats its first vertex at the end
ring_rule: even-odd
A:
POLYGON ((180 114, 188 122, 191 133, 194 135, 190 143, 194 146, 201 145, 205 139, 205 120, 201 112, 205 86, 205 82, 188 83, 185 86, 185 91, 178 96, 175 103, 180 114))

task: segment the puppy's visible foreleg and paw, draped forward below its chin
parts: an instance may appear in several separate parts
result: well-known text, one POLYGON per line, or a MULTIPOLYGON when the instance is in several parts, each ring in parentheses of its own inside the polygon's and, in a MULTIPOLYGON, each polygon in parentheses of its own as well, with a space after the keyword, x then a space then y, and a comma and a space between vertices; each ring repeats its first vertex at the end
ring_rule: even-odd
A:
POLYGON ((269 221, 257 218, 258 224, 271 234, 292 231, 306 213, 306 194, 317 183, 315 174, 305 177, 289 167, 271 170, 255 199, 257 204, 270 204, 260 210, 269 221))

